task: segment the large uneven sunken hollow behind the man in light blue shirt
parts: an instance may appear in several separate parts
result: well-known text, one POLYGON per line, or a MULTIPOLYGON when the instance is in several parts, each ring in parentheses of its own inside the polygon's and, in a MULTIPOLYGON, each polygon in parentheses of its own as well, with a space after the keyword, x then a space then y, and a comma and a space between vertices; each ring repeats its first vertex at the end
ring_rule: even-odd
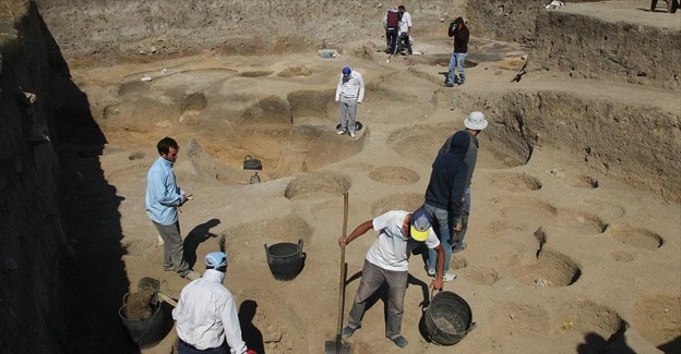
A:
POLYGON ((268 181, 315 171, 362 150, 368 130, 356 139, 336 135, 334 93, 318 88, 314 73, 292 70, 309 86, 291 81, 284 89, 263 85, 279 80, 272 74, 210 69, 170 72, 148 83, 134 78, 119 85, 118 101, 104 109, 104 120, 121 135, 164 130, 181 147, 195 141, 219 164, 208 172, 225 184, 247 183, 240 173, 247 156, 262 162, 260 175, 268 181))

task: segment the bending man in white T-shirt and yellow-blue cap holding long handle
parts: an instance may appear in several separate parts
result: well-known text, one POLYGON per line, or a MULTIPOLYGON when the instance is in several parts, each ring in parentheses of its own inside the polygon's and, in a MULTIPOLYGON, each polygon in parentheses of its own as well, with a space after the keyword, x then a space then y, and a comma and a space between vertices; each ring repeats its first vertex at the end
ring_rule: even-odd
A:
POLYGON ((428 248, 435 249, 438 253, 438 276, 432 281, 431 286, 441 290, 443 285, 444 249, 440 245, 431 224, 432 218, 423 209, 414 212, 391 210, 373 220, 362 222, 347 237, 338 239, 338 245, 340 248, 345 248, 351 241, 371 229, 379 232, 377 240, 367 252, 359 289, 357 289, 353 309, 348 317, 348 325, 340 333, 343 338, 350 338, 357 329, 361 328, 367 301, 383 282, 386 282, 389 289, 385 337, 399 347, 409 344, 401 332, 409 254, 414 248, 426 243, 428 248))

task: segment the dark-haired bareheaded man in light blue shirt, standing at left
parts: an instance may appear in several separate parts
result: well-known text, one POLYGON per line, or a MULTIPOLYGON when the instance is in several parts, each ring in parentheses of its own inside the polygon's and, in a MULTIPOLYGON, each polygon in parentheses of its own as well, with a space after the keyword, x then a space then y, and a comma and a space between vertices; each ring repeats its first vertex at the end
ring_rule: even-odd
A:
POLYGON ((184 260, 184 247, 180 234, 178 207, 191 199, 177 185, 172 166, 180 150, 171 137, 164 137, 156 145, 159 157, 146 174, 145 210, 164 241, 164 270, 175 271, 180 277, 195 280, 201 274, 193 271, 184 260))

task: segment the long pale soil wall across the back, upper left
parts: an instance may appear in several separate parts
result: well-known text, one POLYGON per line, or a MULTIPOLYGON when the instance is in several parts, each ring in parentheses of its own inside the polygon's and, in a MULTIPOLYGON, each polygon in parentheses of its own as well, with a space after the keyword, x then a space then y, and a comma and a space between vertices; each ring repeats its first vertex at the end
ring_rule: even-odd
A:
MULTIPOLYGON (((37 0, 73 65, 157 60, 202 52, 272 54, 375 38, 389 3, 375 1, 37 0)), ((410 1, 415 38, 446 33, 465 0, 410 1)), ((446 38, 446 36, 445 36, 446 38)))

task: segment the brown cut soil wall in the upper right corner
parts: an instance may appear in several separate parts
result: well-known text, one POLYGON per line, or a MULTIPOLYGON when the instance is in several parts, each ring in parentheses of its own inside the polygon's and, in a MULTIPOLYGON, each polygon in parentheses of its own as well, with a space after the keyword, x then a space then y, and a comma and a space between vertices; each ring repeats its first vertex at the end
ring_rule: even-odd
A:
MULTIPOLYGON (((673 19, 673 14, 646 14, 673 19)), ((678 19, 678 16, 677 16, 678 19)), ((537 17, 530 68, 564 78, 680 89, 681 30, 543 11, 537 17), (578 48, 578 50, 575 50, 578 48)))

